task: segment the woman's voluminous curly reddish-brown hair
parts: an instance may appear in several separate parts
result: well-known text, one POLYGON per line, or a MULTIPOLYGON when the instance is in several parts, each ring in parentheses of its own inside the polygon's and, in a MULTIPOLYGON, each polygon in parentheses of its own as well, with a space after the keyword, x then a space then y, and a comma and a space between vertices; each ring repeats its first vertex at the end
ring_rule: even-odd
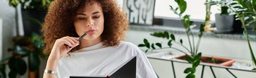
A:
MULTIPOLYGON (((73 22, 76 12, 87 4, 98 3, 104 14, 104 30, 102 41, 107 46, 117 46, 125 39, 125 31, 129 27, 127 17, 115 0, 55 0, 49 6, 44 19, 42 32, 46 45, 44 53, 49 55, 57 39, 70 36, 78 37, 73 22)), ((77 47, 71 51, 77 50, 77 47)))

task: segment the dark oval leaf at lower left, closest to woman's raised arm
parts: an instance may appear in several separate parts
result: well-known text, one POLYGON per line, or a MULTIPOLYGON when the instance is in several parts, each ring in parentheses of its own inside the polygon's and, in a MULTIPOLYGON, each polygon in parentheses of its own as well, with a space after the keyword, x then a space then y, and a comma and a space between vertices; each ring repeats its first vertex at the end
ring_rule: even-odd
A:
POLYGON ((38 55, 36 55, 35 52, 30 52, 30 55, 28 57, 28 66, 30 71, 36 71, 39 68, 40 65, 40 59, 38 55))

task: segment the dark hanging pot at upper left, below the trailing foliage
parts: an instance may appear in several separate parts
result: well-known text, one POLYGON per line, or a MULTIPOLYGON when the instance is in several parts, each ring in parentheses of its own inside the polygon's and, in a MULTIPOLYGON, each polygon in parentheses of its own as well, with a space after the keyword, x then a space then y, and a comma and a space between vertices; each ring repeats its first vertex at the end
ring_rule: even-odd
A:
POLYGON ((37 33, 38 35, 42 35, 40 32, 40 25, 38 23, 34 23, 29 19, 37 19, 42 23, 44 21, 44 17, 46 15, 46 11, 36 11, 36 10, 26 10, 22 11, 22 22, 24 27, 24 35, 30 36, 32 32, 37 33))

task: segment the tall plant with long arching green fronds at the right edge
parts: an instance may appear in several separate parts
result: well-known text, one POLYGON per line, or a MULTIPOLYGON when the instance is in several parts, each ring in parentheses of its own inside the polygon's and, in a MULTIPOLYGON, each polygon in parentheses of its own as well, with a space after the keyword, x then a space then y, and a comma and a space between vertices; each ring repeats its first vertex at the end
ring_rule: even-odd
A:
POLYGON ((225 5, 233 13, 236 14, 236 19, 241 21, 244 29, 245 37, 246 37, 247 44, 249 46, 249 51, 251 54, 251 61, 253 62, 253 66, 256 67, 256 59, 253 53, 253 49, 251 48, 251 43, 249 40, 248 31, 247 31, 247 27, 256 24, 256 1, 255 0, 212 1, 207 4, 225 5))

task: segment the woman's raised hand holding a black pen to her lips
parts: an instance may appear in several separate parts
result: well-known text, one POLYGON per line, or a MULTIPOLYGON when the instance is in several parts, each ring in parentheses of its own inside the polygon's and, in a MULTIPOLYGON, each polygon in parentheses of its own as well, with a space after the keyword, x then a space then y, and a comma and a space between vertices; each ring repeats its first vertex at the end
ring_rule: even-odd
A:
POLYGON ((78 37, 68 36, 57 39, 53 45, 53 49, 48 60, 55 62, 59 61, 63 55, 67 54, 71 49, 79 45, 79 41, 77 41, 78 39, 78 37))

